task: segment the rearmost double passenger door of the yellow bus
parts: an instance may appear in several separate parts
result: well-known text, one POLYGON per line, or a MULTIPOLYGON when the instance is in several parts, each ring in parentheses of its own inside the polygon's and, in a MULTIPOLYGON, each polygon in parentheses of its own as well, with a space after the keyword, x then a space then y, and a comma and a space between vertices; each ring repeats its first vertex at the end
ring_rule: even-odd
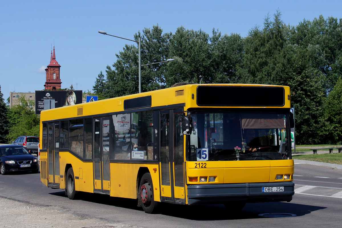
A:
POLYGON ((49 123, 48 125, 48 170, 49 170, 49 187, 60 186, 60 124, 59 122, 49 123))

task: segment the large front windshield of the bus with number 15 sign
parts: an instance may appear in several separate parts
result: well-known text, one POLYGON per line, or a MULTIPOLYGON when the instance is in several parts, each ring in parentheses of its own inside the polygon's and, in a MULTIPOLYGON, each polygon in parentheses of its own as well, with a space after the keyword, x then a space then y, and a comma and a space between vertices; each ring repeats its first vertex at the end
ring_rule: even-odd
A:
POLYGON ((291 157, 287 115, 191 113, 188 161, 281 160, 291 157))

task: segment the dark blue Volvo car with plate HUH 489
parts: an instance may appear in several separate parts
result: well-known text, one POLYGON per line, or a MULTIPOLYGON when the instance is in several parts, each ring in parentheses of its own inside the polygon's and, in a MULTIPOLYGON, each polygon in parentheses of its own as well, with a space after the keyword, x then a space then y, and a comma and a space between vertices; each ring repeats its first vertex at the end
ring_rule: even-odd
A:
POLYGON ((0 145, 0 173, 32 171, 38 173, 38 159, 20 145, 0 145))

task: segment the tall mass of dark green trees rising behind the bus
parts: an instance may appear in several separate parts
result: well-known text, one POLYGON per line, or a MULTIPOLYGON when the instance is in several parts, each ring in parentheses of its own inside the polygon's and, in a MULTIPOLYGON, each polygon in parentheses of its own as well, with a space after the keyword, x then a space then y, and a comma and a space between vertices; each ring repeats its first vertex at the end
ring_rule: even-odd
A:
MULTIPOLYGON (((290 26, 278 11, 265 17, 263 27, 251 28, 245 38, 221 35, 218 29, 209 35, 183 26, 174 33, 163 33, 158 25, 145 28, 134 35, 135 40, 142 38, 142 65, 175 61, 142 66, 142 92, 179 82, 288 85, 296 108, 297 143, 327 142, 333 118, 327 120, 324 107, 342 74, 341 31, 341 19, 319 16, 290 26)), ((125 45, 116 56, 117 61, 107 66, 103 95, 138 93, 137 45, 125 45)))

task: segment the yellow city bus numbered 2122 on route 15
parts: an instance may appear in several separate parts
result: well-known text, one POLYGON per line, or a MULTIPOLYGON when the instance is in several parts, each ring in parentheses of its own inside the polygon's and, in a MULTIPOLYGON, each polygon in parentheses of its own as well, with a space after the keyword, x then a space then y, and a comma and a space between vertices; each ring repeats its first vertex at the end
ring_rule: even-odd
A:
POLYGON ((288 86, 175 84, 41 112, 41 182, 159 202, 291 201, 288 86), (288 131, 287 131, 288 129, 288 131))

